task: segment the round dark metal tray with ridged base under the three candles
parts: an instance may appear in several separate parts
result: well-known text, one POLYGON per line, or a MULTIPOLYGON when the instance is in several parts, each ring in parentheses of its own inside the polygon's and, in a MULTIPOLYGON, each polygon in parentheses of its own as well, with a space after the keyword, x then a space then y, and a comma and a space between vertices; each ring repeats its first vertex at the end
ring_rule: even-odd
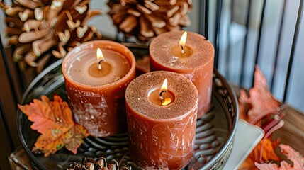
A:
MULTIPOLYGON (((145 47, 129 45, 137 60, 148 53, 145 47)), ((52 100, 53 94, 58 94, 67 101, 61 64, 62 60, 59 60, 39 74, 26 90, 21 103, 29 103, 40 95, 46 95, 52 100)), ((197 121, 193 159, 186 168, 193 166, 193 169, 223 169, 232 149, 237 119, 237 97, 230 84, 214 70, 210 110, 197 121), (213 144, 213 147, 206 147, 209 144, 213 144)), ((86 137, 77 155, 62 149, 50 157, 43 157, 43 154, 30 151, 39 135, 30 125, 26 115, 18 111, 18 134, 35 169, 60 169, 70 162, 80 162, 82 157, 106 157, 107 161, 116 159, 118 162, 121 160, 121 166, 137 168, 133 162, 136 158, 130 157, 127 132, 112 137, 86 137)))

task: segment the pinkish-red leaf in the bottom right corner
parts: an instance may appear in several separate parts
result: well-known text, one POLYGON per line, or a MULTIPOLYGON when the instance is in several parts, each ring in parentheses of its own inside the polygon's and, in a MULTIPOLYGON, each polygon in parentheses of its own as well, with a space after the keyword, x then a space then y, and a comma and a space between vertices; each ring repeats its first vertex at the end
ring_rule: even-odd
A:
POLYGON ((288 164, 285 161, 281 162, 281 166, 278 166, 277 164, 259 164, 255 162, 254 164, 257 166, 258 169, 263 169, 263 170, 301 170, 304 169, 304 158, 299 152, 296 152, 292 147, 289 145, 279 145, 281 148, 282 154, 285 154, 286 157, 293 162, 293 166, 291 164, 288 164))

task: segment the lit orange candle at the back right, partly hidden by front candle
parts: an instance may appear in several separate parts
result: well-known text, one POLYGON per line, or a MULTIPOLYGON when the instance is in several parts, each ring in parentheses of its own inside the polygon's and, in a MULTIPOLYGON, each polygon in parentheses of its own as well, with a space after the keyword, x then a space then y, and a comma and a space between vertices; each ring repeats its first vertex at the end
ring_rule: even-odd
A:
POLYGON ((198 118, 201 118, 211 102, 214 48, 203 35, 188 32, 186 40, 182 40, 183 33, 162 33, 152 40, 150 67, 152 71, 177 72, 191 80, 198 89, 198 118))

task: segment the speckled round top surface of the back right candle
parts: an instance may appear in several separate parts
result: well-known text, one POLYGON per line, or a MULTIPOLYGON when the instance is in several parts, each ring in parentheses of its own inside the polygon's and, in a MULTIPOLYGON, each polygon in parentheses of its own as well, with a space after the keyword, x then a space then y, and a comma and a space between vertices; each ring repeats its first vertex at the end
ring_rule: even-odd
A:
POLYGON ((187 52, 190 53, 186 54, 188 57, 182 57, 179 47, 182 33, 184 32, 172 31, 154 38, 150 45, 150 55, 153 59, 172 69, 193 69, 213 59, 213 45, 197 33, 188 33, 186 49, 191 49, 191 52, 187 52))

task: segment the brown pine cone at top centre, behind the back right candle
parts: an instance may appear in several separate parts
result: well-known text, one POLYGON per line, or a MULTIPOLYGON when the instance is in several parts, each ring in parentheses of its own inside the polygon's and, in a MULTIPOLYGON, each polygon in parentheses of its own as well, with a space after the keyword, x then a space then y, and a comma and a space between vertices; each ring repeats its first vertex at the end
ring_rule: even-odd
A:
POLYGON ((108 6, 118 31, 141 41, 191 24, 191 0, 112 0, 108 6))

